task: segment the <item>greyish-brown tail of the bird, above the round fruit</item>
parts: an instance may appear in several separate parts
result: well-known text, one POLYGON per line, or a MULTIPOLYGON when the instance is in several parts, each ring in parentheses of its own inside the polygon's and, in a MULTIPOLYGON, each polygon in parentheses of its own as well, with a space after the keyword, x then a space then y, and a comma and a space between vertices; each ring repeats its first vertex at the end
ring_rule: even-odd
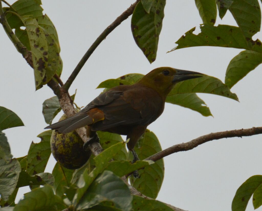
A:
POLYGON ((59 121, 45 127, 45 129, 58 130, 60 133, 69 133, 77 128, 90 125, 94 122, 91 116, 86 114, 77 114, 65 120, 59 121))

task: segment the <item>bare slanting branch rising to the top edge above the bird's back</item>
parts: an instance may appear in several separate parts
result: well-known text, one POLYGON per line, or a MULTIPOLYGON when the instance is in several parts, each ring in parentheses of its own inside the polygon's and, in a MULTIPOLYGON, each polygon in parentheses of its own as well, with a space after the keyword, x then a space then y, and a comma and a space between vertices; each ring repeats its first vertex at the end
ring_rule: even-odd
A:
POLYGON ((126 11, 124 11, 120 16, 114 20, 113 23, 111 23, 103 32, 99 35, 99 37, 96 39, 96 41, 91 45, 91 47, 87 50, 83 58, 79 61, 77 66, 75 67, 72 74, 69 76, 67 81, 65 82, 63 88, 65 90, 68 90, 77 77, 80 70, 83 68, 84 64, 88 60, 88 58, 91 56, 91 54, 94 52, 94 50, 97 48, 97 46, 107 37, 110 32, 112 32, 118 25, 120 25, 125 19, 127 19, 130 15, 132 15, 135 6, 140 0, 137 0, 134 4, 132 4, 126 11))

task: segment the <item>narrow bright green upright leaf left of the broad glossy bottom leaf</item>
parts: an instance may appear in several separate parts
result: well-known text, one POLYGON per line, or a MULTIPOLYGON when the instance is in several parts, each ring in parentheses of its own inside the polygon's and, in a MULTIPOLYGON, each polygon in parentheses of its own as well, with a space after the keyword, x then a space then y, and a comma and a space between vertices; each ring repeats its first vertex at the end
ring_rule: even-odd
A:
POLYGON ((89 174, 88 169, 84 171, 80 179, 78 180, 77 186, 79 187, 77 190, 77 194, 74 197, 73 204, 77 204, 80 199, 85 194, 86 190, 90 186, 90 184, 95 180, 98 174, 100 174, 107 166, 108 162, 123 148, 125 147, 125 142, 119 142, 103 152, 97 155, 94 158, 96 167, 89 174))

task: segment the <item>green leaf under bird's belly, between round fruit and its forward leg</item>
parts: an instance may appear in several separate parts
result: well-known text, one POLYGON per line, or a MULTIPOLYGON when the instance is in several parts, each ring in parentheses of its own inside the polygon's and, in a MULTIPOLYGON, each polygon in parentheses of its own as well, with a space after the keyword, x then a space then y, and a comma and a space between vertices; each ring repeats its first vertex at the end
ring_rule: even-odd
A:
MULTIPOLYGON (((111 147, 112 145, 123 142, 124 140, 122 139, 121 135, 118 135, 116 133, 109 133, 109 132, 102 132, 102 131, 97 131, 97 135, 99 137, 99 143, 102 146, 102 148, 105 150, 108 147, 111 147)), ((121 151, 119 151, 113 159, 116 161, 122 161, 122 160, 127 160, 128 152, 126 148, 122 148, 121 151)))

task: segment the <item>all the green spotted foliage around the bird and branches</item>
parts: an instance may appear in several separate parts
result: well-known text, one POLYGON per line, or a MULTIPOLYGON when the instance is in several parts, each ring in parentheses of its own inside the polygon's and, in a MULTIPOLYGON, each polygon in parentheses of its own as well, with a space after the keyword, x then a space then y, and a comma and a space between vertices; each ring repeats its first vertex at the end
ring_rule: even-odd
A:
MULTIPOLYGON (((36 90, 52 79, 57 81, 62 73, 58 35, 51 20, 46 14, 43 15, 41 4, 41 0, 18 0, 9 7, 0 7, 1 18, 6 17, 10 28, 15 29, 15 36, 31 52, 36 90)), ((150 63, 156 59, 165 4, 165 0, 141 0, 133 11, 132 34, 150 63)), ((225 83, 205 75, 176 84, 166 99, 166 102, 197 111, 203 116, 211 116, 209 107, 196 93, 238 100, 230 89, 262 63, 261 42, 252 39, 260 30, 261 11, 258 0, 195 0, 195 4, 203 20, 201 32, 194 34, 195 27, 188 30, 176 41, 177 46, 171 51, 194 46, 245 49, 230 61, 225 83), (238 27, 214 26, 217 8, 221 19, 229 11, 238 27)), ((141 74, 127 74, 103 81, 97 88, 106 88, 106 91, 117 85, 131 85, 141 77, 141 74)), ((72 101, 74 96, 71 96, 72 101)), ((42 112, 46 123, 50 124, 60 111, 58 96, 43 102, 42 112)), ((153 132, 146 131, 135 147, 141 161, 130 162, 132 155, 127 152, 120 135, 98 131, 104 149, 102 153, 91 156, 84 166, 76 170, 66 169, 57 163, 51 174, 44 171, 51 154, 52 131, 39 134, 37 137, 41 141, 32 142, 26 156, 13 158, 7 137, 2 131, 23 125, 13 111, 0 106, 0 205, 3 207, 0 210, 172 210, 154 200, 164 177, 163 159, 156 162, 143 160, 161 151, 153 132), (121 179, 137 169, 140 178, 130 176, 131 185, 153 199, 132 195, 121 179), (30 186, 31 192, 15 204, 17 191, 24 186, 30 186)), ((261 175, 250 177, 239 187, 232 202, 232 210, 245 210, 252 194, 256 209, 262 204, 261 175)))

